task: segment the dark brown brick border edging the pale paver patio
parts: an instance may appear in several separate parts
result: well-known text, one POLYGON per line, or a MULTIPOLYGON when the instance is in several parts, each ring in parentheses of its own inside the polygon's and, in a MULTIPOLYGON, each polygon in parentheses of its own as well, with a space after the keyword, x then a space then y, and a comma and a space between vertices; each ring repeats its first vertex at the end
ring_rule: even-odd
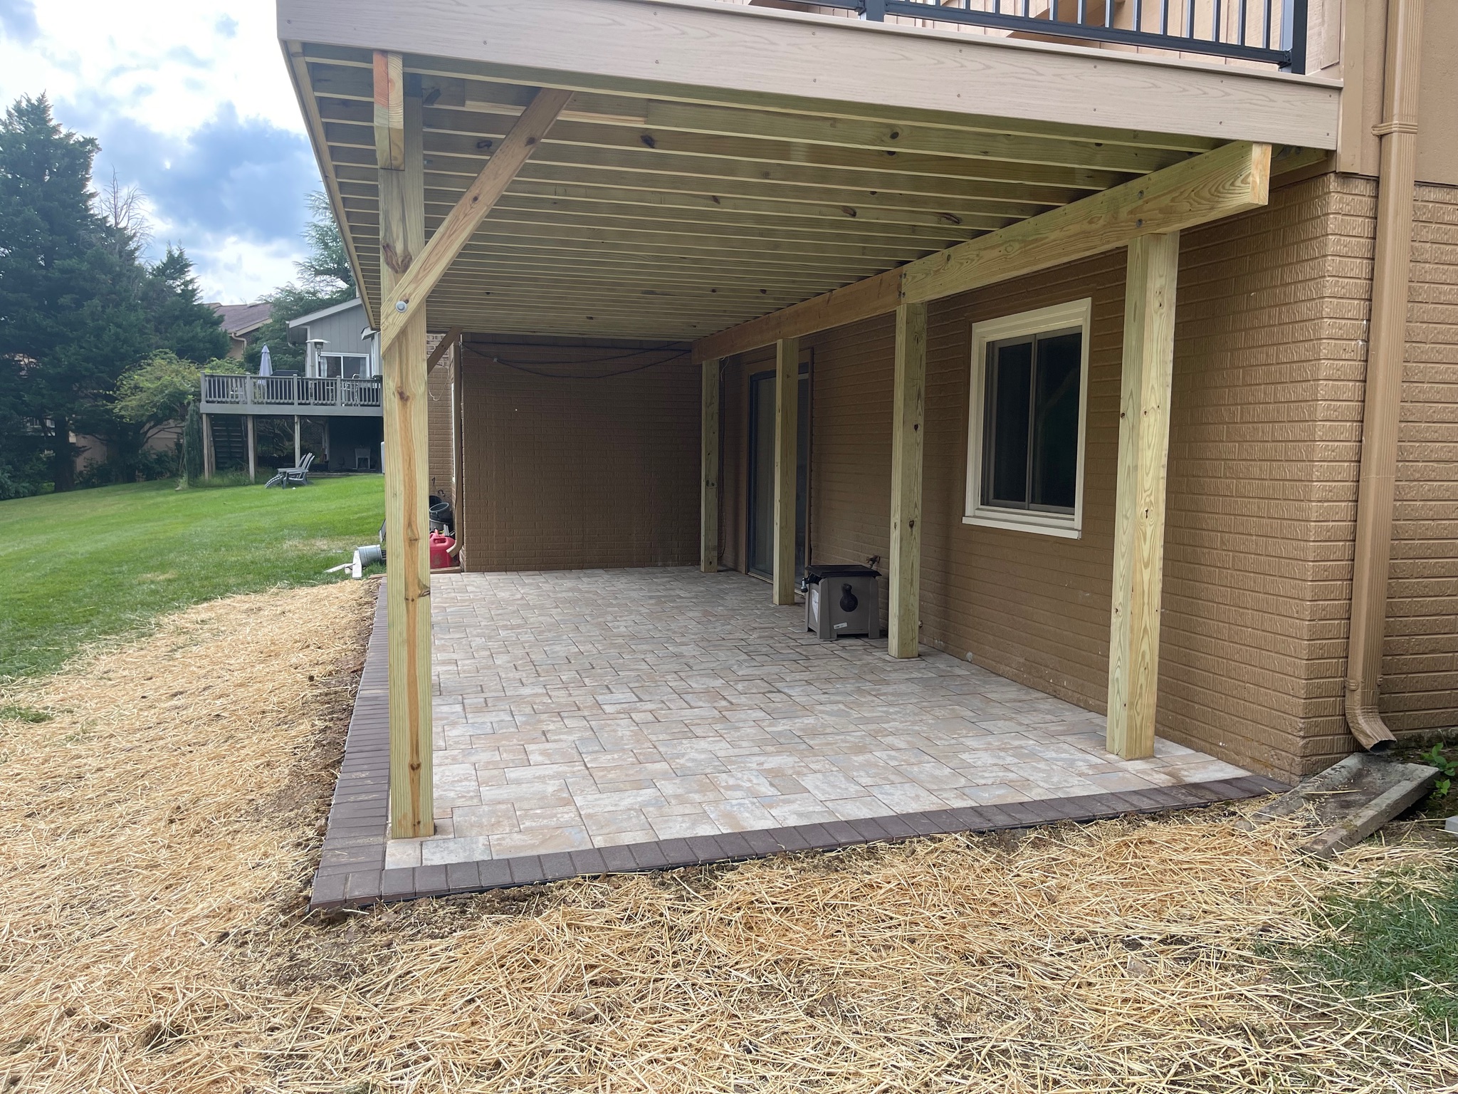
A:
POLYGON ((917 836, 1028 829, 1059 821, 1083 823, 1131 812, 1198 808, 1289 789, 1274 779, 1247 775, 1146 791, 903 812, 869 820, 792 824, 761 831, 690 836, 551 855, 385 869, 385 843, 389 836, 389 691, 385 658, 382 585, 364 653, 364 671, 354 697, 354 713, 344 741, 340 780, 330 805, 319 869, 313 875, 311 909, 363 907, 379 900, 483 893, 582 875, 736 862, 792 850, 830 850, 917 836))

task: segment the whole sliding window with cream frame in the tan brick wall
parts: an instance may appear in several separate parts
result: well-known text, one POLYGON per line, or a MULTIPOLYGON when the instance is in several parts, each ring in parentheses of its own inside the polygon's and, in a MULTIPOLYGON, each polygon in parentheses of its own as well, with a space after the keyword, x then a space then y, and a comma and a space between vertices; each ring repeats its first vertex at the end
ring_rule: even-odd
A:
POLYGON ((972 325, 964 524, 1082 534, 1091 305, 972 325))

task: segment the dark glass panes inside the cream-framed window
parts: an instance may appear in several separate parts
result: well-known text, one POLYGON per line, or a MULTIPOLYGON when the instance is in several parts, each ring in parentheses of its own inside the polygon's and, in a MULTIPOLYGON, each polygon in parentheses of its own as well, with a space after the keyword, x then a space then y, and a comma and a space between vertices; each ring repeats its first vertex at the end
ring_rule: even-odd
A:
POLYGON ((989 343, 983 505, 1073 512, 1082 352, 1079 330, 989 343))

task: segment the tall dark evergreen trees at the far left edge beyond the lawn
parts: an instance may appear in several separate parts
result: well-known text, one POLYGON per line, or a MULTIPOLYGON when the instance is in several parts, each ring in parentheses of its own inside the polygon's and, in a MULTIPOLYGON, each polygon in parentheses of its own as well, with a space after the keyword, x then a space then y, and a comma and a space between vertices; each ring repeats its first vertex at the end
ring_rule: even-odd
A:
MULTIPOLYGON (((149 352, 197 363, 227 350, 181 249, 141 261, 141 195, 90 190, 98 144, 63 128, 47 98, 0 121, 0 484, 34 492, 44 464, 74 486, 71 435, 98 435, 130 477, 144 435, 112 407, 117 379, 149 352)), ((42 480, 44 481, 44 480, 42 480)))

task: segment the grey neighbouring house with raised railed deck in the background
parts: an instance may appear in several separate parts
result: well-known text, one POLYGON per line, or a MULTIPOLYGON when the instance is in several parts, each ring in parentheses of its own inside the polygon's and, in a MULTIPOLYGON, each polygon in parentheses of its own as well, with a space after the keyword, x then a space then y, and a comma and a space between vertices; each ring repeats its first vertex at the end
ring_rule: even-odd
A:
POLYGON ((290 319, 289 341, 306 346, 302 376, 203 373, 206 474, 233 467, 257 478, 261 422, 292 427, 295 461, 308 448, 316 471, 379 471, 379 357, 360 300, 290 319))

